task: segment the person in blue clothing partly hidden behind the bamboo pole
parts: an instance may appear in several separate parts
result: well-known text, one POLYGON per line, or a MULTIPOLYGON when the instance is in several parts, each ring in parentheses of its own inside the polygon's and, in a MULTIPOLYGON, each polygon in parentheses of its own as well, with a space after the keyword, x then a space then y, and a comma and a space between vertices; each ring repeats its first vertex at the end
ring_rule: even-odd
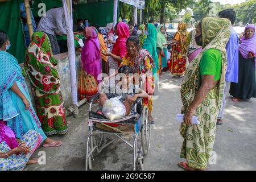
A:
MULTIPOLYGON (((30 0, 29 2, 30 2, 30 6, 32 6, 34 4, 33 0, 30 0)), ((25 46, 28 47, 30 45, 30 34, 28 32, 27 14, 26 14, 24 2, 20 3, 19 9, 20 9, 20 18, 22 19, 22 27, 23 27, 23 34, 24 34, 24 39, 25 39, 25 46)), ((34 19, 31 9, 30 9, 30 15, 31 15, 31 20, 32 20, 32 25, 33 25, 33 31, 35 32, 36 31, 36 23, 35 23, 35 19, 34 19)))

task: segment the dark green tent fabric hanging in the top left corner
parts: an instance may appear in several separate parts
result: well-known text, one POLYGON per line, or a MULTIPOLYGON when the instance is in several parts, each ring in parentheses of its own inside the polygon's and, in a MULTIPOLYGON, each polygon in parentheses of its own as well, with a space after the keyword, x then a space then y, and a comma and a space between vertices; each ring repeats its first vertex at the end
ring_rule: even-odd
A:
POLYGON ((7 52, 15 56, 19 63, 24 62, 24 52, 26 51, 19 12, 19 3, 21 2, 16 0, 0 3, 0 30, 8 34, 11 47, 7 52))

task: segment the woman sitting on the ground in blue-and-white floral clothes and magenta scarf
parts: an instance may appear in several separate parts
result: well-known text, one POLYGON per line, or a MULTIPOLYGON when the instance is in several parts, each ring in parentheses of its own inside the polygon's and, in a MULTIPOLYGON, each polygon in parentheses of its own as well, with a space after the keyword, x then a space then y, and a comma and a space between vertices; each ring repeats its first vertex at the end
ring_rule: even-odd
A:
POLYGON ((0 171, 22 170, 26 164, 38 163, 30 159, 43 137, 35 130, 29 130, 17 140, 14 132, 0 120, 0 171))

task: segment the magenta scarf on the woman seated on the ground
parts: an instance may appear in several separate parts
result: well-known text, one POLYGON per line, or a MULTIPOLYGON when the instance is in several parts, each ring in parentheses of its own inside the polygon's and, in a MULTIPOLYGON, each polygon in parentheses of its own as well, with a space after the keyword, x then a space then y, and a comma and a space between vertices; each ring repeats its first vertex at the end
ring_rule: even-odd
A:
POLYGON ((0 120, 0 143, 5 141, 5 143, 11 148, 18 147, 18 142, 15 138, 14 132, 6 125, 6 122, 0 120))

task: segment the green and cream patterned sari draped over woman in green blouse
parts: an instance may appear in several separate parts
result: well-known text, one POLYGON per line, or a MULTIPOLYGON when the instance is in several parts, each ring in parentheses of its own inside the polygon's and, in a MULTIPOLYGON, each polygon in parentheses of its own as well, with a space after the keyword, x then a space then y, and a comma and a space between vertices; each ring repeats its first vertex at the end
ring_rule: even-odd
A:
POLYGON ((185 114, 194 100, 201 84, 200 60, 207 49, 221 51, 222 72, 217 86, 209 91, 204 101, 197 107, 195 115, 200 124, 181 123, 180 134, 184 138, 180 158, 187 159, 188 166, 196 169, 207 168, 207 163, 216 135, 216 122, 220 110, 226 73, 226 43, 229 40, 231 23, 224 18, 204 18, 202 20, 203 50, 188 65, 181 85, 182 114, 185 114))

